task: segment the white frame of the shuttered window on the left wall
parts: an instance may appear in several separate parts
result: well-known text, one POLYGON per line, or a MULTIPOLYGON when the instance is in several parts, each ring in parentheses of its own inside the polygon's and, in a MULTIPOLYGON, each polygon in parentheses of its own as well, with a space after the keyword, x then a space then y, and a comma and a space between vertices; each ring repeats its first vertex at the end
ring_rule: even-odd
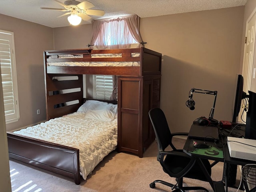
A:
MULTIPOLYGON (((10 46, 10 67, 11 67, 11 78, 12 78, 12 93, 13 93, 13 105, 14 113, 5 113, 6 124, 17 122, 20 118, 19 100, 18 100, 18 80, 17 80, 17 69, 16 69, 16 56, 15 56, 15 44, 14 44, 14 32, 0 30, 0 38, 9 41, 10 46), (8 38, 7 38, 8 37, 8 38)), ((1 72, 2 76, 2 72, 1 72)), ((3 82, 2 82, 3 84, 3 82)), ((5 100, 4 100, 5 102, 5 100)), ((6 112, 6 111, 5 111, 6 112)))

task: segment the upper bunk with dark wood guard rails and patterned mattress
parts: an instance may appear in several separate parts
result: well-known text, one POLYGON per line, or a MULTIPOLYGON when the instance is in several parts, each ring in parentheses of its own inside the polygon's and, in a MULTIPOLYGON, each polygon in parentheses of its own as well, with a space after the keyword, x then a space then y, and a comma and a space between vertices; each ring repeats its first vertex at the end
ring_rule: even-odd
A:
POLYGON ((161 74, 162 54, 146 49, 51 50, 44 52, 47 74, 143 76, 161 74), (72 66, 73 68, 70 68, 72 66))

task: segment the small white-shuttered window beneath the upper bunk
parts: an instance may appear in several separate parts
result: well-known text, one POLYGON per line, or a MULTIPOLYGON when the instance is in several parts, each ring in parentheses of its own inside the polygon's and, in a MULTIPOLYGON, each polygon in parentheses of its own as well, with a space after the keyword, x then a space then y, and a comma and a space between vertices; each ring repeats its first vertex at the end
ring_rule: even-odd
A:
POLYGON ((113 91, 112 75, 94 75, 94 98, 110 100, 113 91))

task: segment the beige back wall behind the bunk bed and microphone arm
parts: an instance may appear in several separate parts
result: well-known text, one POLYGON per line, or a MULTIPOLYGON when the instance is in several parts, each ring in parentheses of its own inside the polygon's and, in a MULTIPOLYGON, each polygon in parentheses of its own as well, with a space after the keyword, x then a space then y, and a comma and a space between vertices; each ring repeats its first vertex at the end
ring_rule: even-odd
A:
MULTIPOLYGON (((214 117, 232 120, 243 18, 244 6, 141 19, 140 32, 148 42, 146 48, 163 54, 161 108, 172 132, 188 131, 194 119, 210 113, 214 101, 211 95, 194 94, 196 109, 186 107, 193 87, 217 90, 214 117)), ((54 28, 54 47, 84 48, 90 41, 91 25, 80 26, 79 30, 84 32, 71 27, 54 28)))

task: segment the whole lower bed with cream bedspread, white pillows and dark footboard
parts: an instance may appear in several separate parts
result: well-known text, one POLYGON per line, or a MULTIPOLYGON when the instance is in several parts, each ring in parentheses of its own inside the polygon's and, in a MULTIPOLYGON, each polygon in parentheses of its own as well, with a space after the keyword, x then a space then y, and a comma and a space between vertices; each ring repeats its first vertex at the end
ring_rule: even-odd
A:
POLYGON ((7 132, 10 158, 80 184, 117 146, 117 105, 87 100, 77 112, 7 132))

